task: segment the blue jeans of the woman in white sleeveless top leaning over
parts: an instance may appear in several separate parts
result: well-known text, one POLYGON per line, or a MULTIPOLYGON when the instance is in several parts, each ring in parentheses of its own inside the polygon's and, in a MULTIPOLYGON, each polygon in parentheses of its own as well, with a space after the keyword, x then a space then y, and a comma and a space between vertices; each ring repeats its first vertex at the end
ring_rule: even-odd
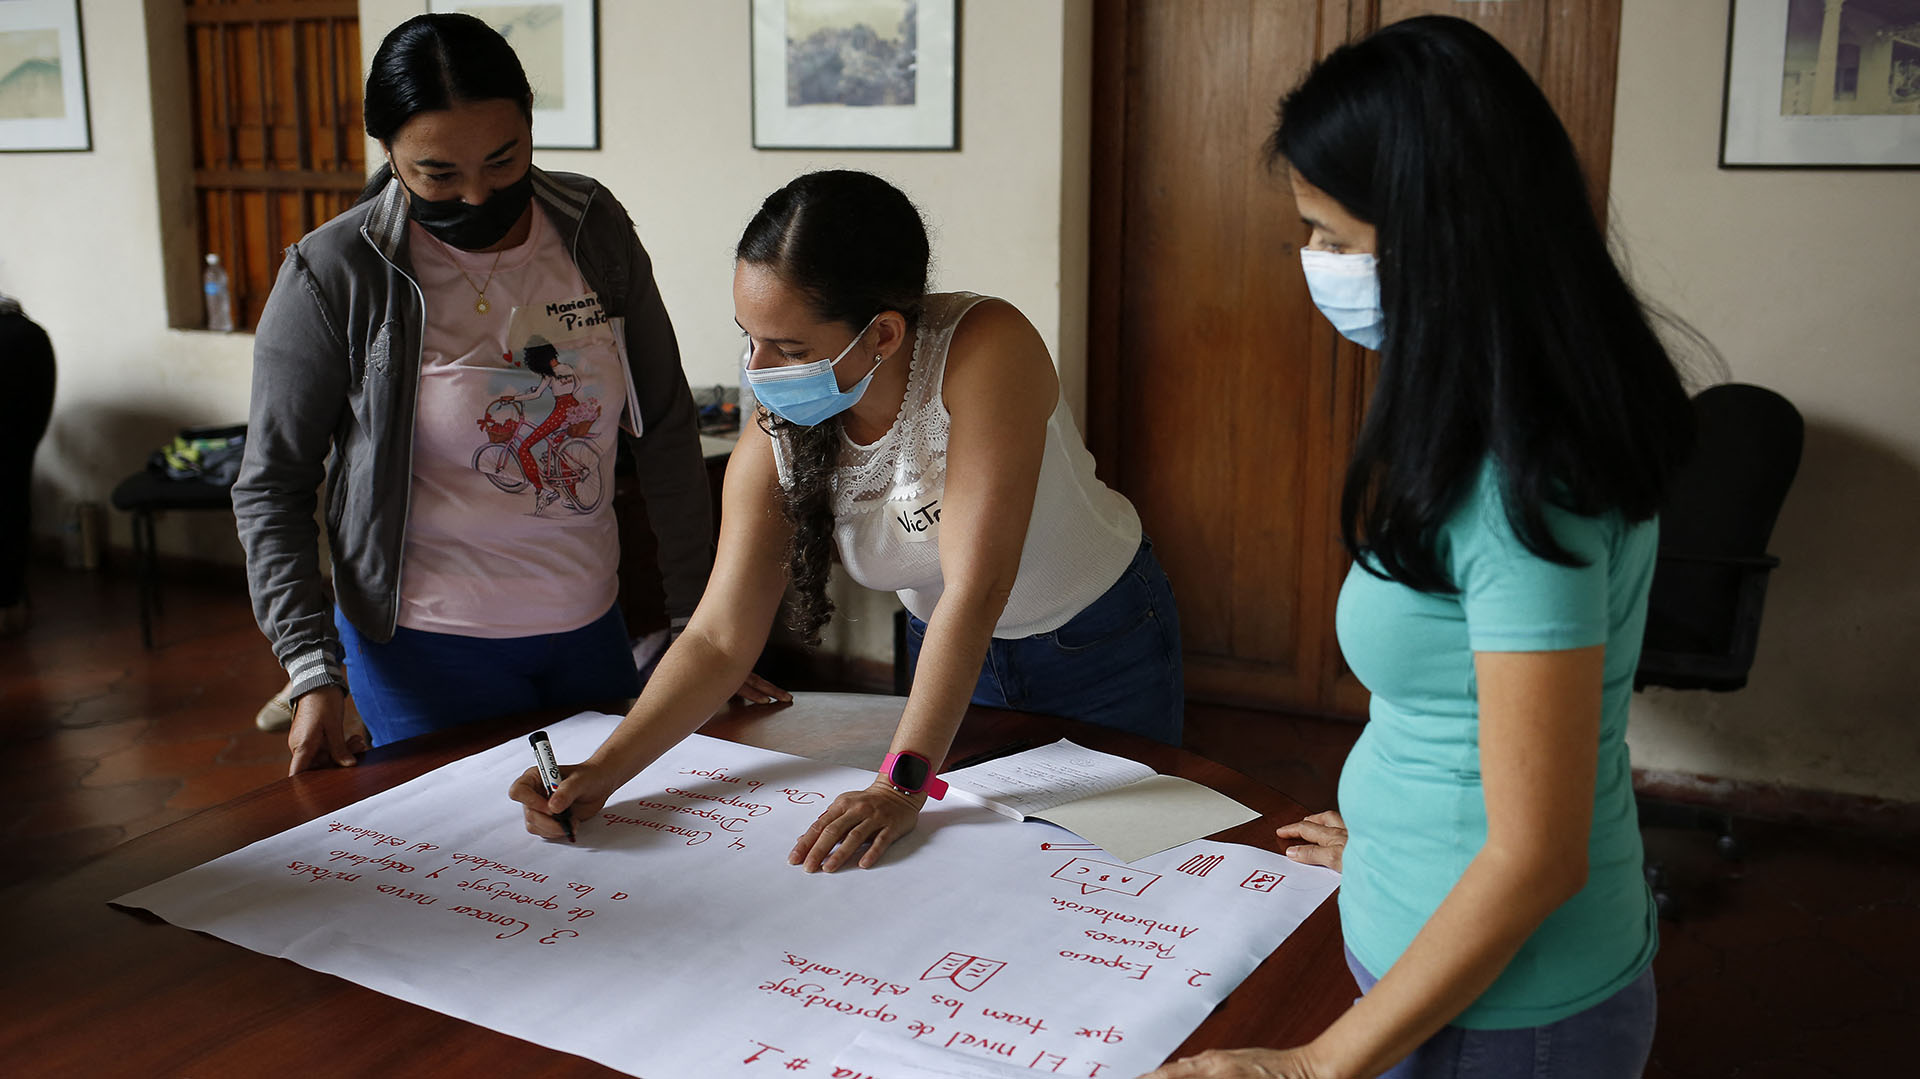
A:
MULTIPOLYGON (((906 659, 920 666, 927 624, 906 616, 906 659)), ((1087 720, 1181 743, 1187 687, 1181 614, 1167 572, 1142 536, 1119 580, 1066 626, 1031 637, 995 637, 973 703, 1087 720)))

